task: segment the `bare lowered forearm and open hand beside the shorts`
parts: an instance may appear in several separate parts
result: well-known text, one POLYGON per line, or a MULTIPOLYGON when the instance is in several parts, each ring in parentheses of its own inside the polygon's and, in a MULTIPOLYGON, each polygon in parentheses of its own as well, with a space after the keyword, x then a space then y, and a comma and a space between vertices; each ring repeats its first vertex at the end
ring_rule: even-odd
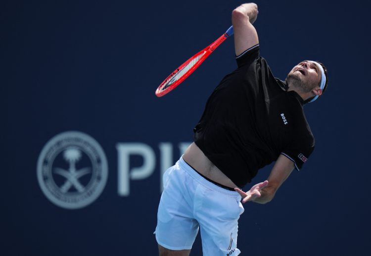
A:
POLYGON ((254 185, 247 192, 243 192, 238 188, 235 188, 234 190, 237 191, 243 198, 242 203, 252 201, 259 204, 266 204, 272 201, 278 188, 291 174, 294 167, 294 162, 281 154, 278 156, 268 180, 254 185))

